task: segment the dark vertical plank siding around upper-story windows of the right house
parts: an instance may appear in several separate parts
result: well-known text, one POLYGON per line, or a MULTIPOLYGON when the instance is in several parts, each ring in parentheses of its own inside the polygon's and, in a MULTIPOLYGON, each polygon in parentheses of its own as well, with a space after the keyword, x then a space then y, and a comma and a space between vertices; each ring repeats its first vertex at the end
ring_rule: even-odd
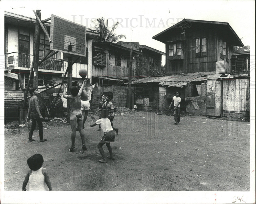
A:
POLYGON ((230 73, 232 42, 229 42, 228 35, 223 30, 219 30, 216 25, 211 24, 193 24, 190 28, 185 28, 185 34, 181 35, 181 28, 169 30, 166 33, 166 74, 182 74, 196 72, 215 72, 216 62, 224 61, 225 71, 230 73), (205 56, 196 56, 197 38, 206 38, 207 52, 205 56), (220 39, 227 43, 229 47, 229 62, 226 57, 220 58, 220 39), (182 41, 184 46, 184 59, 170 60, 169 43, 182 41))

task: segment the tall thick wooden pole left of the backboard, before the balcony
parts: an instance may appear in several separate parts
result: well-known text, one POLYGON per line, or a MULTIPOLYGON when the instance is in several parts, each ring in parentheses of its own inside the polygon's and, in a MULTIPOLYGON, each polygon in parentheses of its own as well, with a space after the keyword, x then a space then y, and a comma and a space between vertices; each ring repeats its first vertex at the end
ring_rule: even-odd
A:
MULTIPOLYGON (((36 10, 36 14, 38 15, 39 19, 41 19, 41 10, 36 10)), ((39 42, 40 42, 40 34, 39 34, 39 21, 36 18, 36 25, 35 25, 35 36, 34 36, 34 87, 38 87, 38 63, 39 63, 39 42)))

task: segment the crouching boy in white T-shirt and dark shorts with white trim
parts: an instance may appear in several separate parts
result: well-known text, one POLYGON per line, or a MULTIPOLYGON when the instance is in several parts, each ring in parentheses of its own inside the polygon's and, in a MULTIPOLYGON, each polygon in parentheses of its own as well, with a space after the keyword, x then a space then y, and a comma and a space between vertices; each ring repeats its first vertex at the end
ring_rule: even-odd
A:
POLYGON ((99 144, 97 145, 100 151, 100 154, 102 156, 101 159, 98 160, 98 162, 101 163, 107 163, 108 161, 106 160, 106 158, 109 158, 111 160, 114 160, 114 156, 113 156, 113 152, 112 152, 112 148, 110 146, 110 142, 114 142, 115 141, 115 135, 116 132, 113 130, 112 126, 111 126, 111 122, 108 119, 108 110, 106 109, 102 109, 101 110, 101 119, 97 120, 96 122, 94 122, 95 118, 93 115, 91 115, 92 118, 92 122, 91 122, 91 127, 96 126, 96 125, 100 125, 101 129, 103 131, 103 137, 100 140, 99 144), (105 156, 104 150, 102 148, 102 146, 106 144, 110 156, 105 156))

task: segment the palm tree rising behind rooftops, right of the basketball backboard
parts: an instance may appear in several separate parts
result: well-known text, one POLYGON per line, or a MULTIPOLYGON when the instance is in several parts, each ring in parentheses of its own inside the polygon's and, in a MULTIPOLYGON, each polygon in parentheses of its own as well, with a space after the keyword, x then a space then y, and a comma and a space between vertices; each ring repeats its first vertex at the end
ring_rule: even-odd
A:
POLYGON ((116 22, 112 29, 108 28, 108 19, 104 21, 104 18, 96 18, 94 21, 94 27, 89 29, 91 32, 99 33, 100 36, 94 38, 94 42, 118 42, 121 38, 125 38, 125 35, 116 35, 115 29, 118 28, 119 22, 116 22))

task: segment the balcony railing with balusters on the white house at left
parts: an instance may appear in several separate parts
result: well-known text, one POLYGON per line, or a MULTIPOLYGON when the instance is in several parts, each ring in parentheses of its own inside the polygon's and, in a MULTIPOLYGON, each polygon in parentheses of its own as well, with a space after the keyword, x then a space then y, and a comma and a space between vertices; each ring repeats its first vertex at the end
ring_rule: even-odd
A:
MULTIPOLYGON (((34 55, 24 54, 18 52, 12 52, 7 54, 8 69, 14 69, 18 67, 30 68, 31 63, 33 62, 34 55)), ((39 57, 39 61, 42 57, 39 57)), ((65 71, 66 70, 66 61, 62 59, 49 58, 42 62, 38 69, 42 70, 53 70, 53 71, 65 71)))

